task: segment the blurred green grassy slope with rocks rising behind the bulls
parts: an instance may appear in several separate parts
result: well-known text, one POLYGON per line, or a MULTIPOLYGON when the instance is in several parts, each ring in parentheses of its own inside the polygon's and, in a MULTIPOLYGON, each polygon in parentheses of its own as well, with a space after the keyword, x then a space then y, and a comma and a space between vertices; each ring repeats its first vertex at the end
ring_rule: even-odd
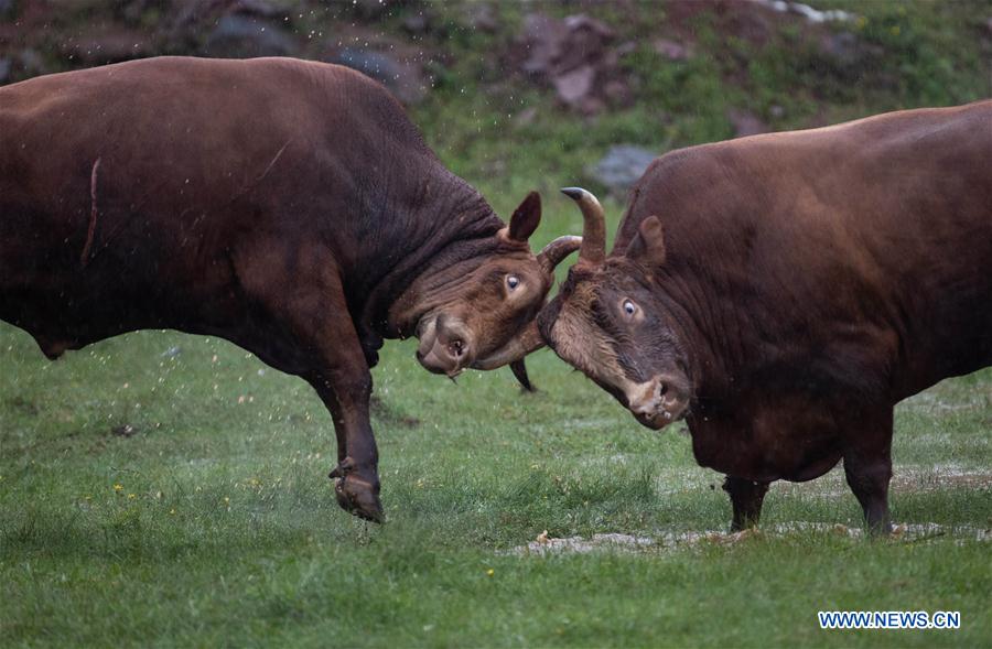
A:
MULTIPOLYGON (((449 164, 492 188, 485 193, 498 206, 508 193, 505 208, 511 209, 509 203, 532 187, 553 191, 581 182, 602 190, 586 170, 613 144, 660 153, 730 138, 727 112, 733 109, 786 130, 992 96, 989 0, 811 3, 847 9, 859 19, 813 28, 796 17, 773 18, 766 37, 755 42, 737 35, 734 21, 718 9, 676 28, 665 20, 667 3, 654 0, 532 8, 507 2, 498 6, 499 26, 490 34, 459 22, 463 3, 432 6, 443 29, 423 43, 445 52, 444 65, 435 66, 436 87, 412 113, 449 164), (558 106, 553 91, 508 63, 511 53, 519 55, 524 14, 530 11, 582 12, 613 29, 615 43, 629 50, 618 64, 633 100, 583 118, 558 106), (852 60, 831 56, 821 45, 843 32, 858 42, 852 60), (665 60, 653 46, 659 37, 690 45, 693 55, 665 60), (531 118, 521 120, 528 110, 531 118)), ((402 15, 400 9, 395 20, 402 15)))

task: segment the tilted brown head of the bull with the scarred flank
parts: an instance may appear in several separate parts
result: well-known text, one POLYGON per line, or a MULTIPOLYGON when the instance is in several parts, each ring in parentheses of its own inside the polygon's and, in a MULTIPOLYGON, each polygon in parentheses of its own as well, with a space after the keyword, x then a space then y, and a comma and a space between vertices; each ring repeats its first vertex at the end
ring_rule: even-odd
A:
POLYGON ((453 260, 438 260, 414 280, 407 312, 397 320, 416 320, 417 359, 425 369, 449 377, 466 368, 495 369, 543 346, 535 317, 554 267, 581 239, 559 237, 535 255, 528 239, 540 218, 541 199, 531 192, 509 225, 487 240, 466 244, 453 260))

